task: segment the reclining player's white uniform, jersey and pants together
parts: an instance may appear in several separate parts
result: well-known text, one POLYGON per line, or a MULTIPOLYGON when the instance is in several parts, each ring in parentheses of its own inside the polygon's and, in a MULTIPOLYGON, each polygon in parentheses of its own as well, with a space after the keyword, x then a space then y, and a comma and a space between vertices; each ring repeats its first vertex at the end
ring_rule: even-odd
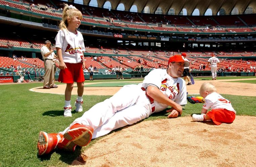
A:
POLYGON ((168 105, 147 97, 143 90, 148 86, 159 88, 166 97, 179 105, 187 104, 185 81, 181 78, 172 78, 164 69, 155 69, 145 76, 143 83, 124 86, 111 98, 94 105, 60 133, 65 133, 76 123, 84 124, 94 129, 94 139, 166 109, 168 105))

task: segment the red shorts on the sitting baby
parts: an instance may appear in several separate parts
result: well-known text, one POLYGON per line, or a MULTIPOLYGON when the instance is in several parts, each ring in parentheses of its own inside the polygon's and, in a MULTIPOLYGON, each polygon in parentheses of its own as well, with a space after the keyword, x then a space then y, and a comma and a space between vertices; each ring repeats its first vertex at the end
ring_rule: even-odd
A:
POLYGON ((226 109, 213 109, 206 113, 216 125, 221 123, 232 123, 236 118, 236 114, 226 109))

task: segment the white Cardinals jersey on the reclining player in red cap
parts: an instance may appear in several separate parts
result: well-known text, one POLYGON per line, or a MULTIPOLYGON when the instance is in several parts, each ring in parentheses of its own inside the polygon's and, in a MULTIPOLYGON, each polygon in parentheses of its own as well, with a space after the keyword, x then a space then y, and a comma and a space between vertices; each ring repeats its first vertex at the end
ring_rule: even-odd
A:
MULTIPOLYGON (((159 90, 169 99, 179 105, 187 104, 185 81, 181 78, 173 78, 167 74, 165 69, 154 69, 148 73, 143 83, 139 86, 147 88, 148 86, 158 87, 159 90)), ((154 100, 155 112, 163 111, 168 105, 154 100)), ((153 107, 153 106, 152 106, 153 107)))

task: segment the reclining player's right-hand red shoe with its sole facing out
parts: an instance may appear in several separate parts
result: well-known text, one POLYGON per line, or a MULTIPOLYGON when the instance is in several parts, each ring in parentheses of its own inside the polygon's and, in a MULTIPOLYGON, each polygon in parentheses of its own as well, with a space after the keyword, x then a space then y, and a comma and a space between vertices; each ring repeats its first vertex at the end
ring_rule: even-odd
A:
POLYGON ((63 135, 63 140, 58 143, 59 149, 75 151, 76 146, 86 146, 92 139, 93 128, 88 125, 74 124, 63 135))

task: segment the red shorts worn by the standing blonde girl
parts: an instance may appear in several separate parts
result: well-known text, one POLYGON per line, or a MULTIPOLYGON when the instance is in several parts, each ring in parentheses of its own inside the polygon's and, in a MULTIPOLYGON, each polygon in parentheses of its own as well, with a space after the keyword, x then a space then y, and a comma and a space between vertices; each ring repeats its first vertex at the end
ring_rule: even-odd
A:
POLYGON ((74 83, 84 81, 83 63, 65 63, 67 68, 59 72, 59 82, 74 83))

